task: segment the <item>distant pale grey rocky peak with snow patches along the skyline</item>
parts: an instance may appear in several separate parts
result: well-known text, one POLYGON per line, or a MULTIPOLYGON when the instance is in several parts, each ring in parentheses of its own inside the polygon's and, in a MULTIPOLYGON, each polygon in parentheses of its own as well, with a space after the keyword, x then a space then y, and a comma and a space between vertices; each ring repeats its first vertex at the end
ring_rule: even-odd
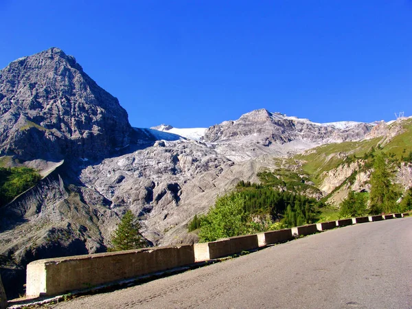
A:
POLYGON ((266 154, 295 154, 321 144, 358 141, 371 128, 372 124, 361 122, 317 124, 259 109, 236 121, 211 126, 202 141, 233 161, 244 161, 266 154))

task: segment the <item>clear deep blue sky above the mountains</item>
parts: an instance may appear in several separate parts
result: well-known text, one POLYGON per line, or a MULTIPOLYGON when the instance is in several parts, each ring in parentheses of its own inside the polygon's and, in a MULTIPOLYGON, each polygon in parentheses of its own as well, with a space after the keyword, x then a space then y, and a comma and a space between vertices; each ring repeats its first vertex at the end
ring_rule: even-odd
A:
POLYGON ((412 0, 0 0, 0 67, 60 47, 137 127, 256 108, 314 122, 412 115, 412 0))

